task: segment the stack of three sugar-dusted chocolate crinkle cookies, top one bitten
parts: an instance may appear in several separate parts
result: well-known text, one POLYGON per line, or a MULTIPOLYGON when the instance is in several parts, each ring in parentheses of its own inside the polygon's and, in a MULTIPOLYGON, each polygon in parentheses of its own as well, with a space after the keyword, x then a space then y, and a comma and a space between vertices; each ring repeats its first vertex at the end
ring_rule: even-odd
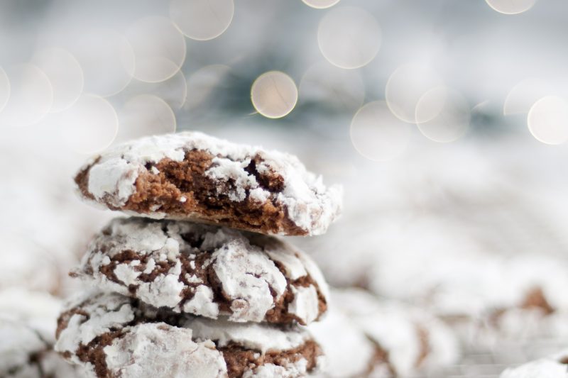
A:
POLYGON ((72 272, 55 349, 92 377, 303 377, 322 350, 303 326, 327 285, 271 235, 317 235, 341 210, 297 158, 202 133, 154 136, 94 157, 75 178, 115 218, 72 272))

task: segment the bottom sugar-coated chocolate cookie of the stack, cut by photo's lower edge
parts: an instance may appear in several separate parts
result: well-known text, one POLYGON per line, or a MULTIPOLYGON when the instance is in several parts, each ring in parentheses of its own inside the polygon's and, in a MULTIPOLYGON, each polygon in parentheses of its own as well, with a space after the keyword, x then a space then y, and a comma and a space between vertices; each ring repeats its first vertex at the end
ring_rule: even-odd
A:
POLYGON ((55 350, 97 377, 304 377, 320 347, 298 326, 231 323, 155 309, 120 294, 79 299, 55 350))

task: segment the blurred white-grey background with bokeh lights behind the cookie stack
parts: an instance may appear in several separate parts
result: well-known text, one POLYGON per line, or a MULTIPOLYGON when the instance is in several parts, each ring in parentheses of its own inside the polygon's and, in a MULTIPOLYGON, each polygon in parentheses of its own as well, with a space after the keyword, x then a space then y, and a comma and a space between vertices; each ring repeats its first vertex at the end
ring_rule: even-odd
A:
POLYGON ((87 157, 201 130, 294 153, 344 185, 342 219, 293 243, 334 287, 411 306, 458 340, 456 357, 398 375, 498 377, 559 352, 567 12, 548 0, 1 0, 0 311, 77 291, 68 270, 116 216, 74 194, 87 157))

